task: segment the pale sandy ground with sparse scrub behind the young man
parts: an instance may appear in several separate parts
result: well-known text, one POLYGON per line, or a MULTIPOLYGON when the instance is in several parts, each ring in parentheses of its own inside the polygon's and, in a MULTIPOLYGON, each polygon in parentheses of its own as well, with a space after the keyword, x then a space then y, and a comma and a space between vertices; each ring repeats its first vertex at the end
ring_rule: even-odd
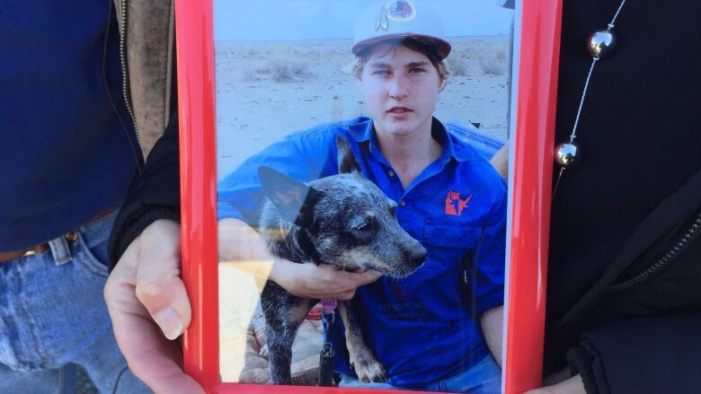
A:
MULTIPOLYGON (((451 39, 451 72, 435 116, 478 122, 506 137, 508 40, 451 39)), ((363 114, 363 97, 344 71, 351 41, 217 43, 217 179, 290 132, 363 114)), ((219 264, 219 344, 223 381, 244 366, 245 330, 262 288, 260 279, 219 264)))

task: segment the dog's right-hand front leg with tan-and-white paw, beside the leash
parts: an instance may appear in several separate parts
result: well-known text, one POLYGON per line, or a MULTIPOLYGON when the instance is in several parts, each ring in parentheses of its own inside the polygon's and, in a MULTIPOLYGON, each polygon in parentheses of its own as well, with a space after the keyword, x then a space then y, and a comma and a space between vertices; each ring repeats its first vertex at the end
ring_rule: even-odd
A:
POLYGON ((349 303, 339 302, 338 310, 341 313, 343 325, 346 327, 346 346, 349 355, 351 355, 351 365, 355 369, 358 379, 366 383, 386 381, 385 367, 377 361, 375 354, 365 345, 358 320, 353 316, 349 303))

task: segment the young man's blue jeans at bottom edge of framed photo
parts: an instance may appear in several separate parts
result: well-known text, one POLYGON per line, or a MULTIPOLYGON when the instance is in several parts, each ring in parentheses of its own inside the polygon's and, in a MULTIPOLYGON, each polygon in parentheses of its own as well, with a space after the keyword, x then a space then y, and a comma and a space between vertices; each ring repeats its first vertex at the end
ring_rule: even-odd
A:
POLYGON ((439 392, 469 392, 496 394, 501 392, 501 367, 492 355, 487 355, 466 371, 457 372, 442 381, 420 387, 400 387, 390 383, 363 383, 355 375, 342 374, 338 387, 346 389, 421 390, 439 392))

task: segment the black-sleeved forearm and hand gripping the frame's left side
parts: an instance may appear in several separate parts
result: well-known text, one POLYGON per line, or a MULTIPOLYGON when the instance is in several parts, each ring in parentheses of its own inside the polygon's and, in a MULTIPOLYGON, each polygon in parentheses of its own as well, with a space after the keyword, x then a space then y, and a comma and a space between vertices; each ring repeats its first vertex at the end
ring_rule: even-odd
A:
POLYGON ((190 325, 180 278, 180 177, 177 115, 148 156, 110 239, 105 302, 129 368, 155 392, 198 393, 182 372, 182 350, 166 340, 190 325), (165 336, 165 337, 164 337, 165 336))

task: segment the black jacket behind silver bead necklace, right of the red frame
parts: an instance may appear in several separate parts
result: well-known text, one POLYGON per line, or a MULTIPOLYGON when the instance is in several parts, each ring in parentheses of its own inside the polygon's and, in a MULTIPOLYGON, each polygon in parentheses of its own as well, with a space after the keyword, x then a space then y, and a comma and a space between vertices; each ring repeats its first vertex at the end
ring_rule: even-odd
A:
MULTIPOLYGON (((624 6, 617 50, 595 66, 581 112, 582 160, 553 201, 546 373, 562 369, 571 348, 588 392, 701 389, 686 374, 701 363, 691 329, 701 319, 701 242, 643 283, 608 290, 652 266, 701 212, 701 4, 684 3, 624 6)), ((587 37, 619 4, 563 4, 555 144, 572 131, 587 37)))

